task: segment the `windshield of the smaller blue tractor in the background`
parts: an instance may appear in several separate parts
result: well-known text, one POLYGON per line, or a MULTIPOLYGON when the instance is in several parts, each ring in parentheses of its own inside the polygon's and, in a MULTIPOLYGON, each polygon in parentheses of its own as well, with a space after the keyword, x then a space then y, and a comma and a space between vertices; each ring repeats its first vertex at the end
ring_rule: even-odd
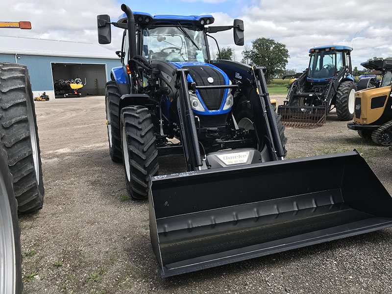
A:
POLYGON ((343 52, 320 51, 312 54, 309 63, 310 78, 334 76, 343 67, 343 52))

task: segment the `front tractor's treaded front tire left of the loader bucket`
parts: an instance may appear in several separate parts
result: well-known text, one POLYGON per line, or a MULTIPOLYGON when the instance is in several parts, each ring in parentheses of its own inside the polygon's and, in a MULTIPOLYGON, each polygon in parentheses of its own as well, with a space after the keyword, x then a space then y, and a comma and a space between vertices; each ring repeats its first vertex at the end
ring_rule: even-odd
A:
POLYGON ((148 109, 144 106, 123 108, 121 129, 126 189, 133 199, 145 199, 149 177, 159 168, 154 125, 148 109))

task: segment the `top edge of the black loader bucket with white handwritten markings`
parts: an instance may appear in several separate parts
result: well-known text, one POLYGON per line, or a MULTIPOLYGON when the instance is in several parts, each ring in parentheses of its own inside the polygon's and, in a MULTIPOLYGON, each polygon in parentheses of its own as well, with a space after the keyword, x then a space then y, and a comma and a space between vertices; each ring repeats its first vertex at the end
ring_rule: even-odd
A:
POLYGON ((268 162, 263 162, 263 163, 254 163, 254 164, 248 164, 248 165, 239 165, 239 166, 217 168, 217 169, 210 169, 210 170, 177 172, 177 173, 172 173, 172 174, 152 176, 151 183, 152 184, 159 184, 159 183, 165 182, 169 179, 180 180, 180 179, 185 179, 185 178, 189 178, 189 177, 197 176, 197 175, 198 176, 200 176, 200 175, 213 176, 213 175, 216 175, 217 173, 222 174, 225 172, 252 170, 252 169, 258 169, 261 167, 279 166, 279 165, 284 165, 287 163, 310 162, 310 161, 318 161, 318 160, 324 160, 324 159, 357 157, 357 156, 362 158, 362 156, 359 154, 359 152, 356 149, 354 149, 353 151, 347 151, 347 152, 342 152, 342 153, 332 153, 332 154, 316 155, 316 156, 309 156, 309 157, 302 157, 302 158, 268 161, 268 162))

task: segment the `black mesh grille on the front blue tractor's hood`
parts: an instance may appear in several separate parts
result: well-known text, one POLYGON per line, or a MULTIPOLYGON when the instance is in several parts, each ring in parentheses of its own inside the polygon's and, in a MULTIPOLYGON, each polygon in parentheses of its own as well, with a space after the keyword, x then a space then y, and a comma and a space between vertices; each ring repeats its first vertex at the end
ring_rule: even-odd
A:
MULTIPOLYGON (((184 66, 189 69, 196 86, 217 86, 224 85, 223 75, 210 66, 184 66), (209 83, 207 78, 212 77, 213 83, 209 83)), ((221 108, 224 89, 198 90, 205 106, 209 110, 218 110, 221 108)))

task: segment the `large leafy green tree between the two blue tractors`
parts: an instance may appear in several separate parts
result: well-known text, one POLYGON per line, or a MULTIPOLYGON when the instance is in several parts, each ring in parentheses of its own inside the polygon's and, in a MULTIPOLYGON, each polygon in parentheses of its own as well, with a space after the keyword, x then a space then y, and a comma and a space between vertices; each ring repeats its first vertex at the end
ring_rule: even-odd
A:
POLYGON ((286 45, 269 38, 257 38, 252 41, 252 49, 243 51, 242 55, 243 63, 266 68, 267 82, 284 73, 287 59, 290 57, 286 45))

